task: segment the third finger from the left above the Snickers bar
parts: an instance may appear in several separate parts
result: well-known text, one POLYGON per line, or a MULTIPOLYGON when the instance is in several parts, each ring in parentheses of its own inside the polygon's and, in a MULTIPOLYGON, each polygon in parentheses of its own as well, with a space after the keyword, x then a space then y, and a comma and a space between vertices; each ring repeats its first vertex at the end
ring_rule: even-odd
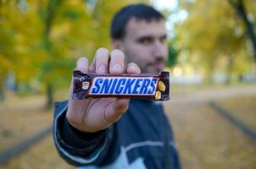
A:
POLYGON ((122 74, 124 70, 125 54, 120 50, 114 50, 110 53, 110 64, 109 73, 110 74, 122 74))

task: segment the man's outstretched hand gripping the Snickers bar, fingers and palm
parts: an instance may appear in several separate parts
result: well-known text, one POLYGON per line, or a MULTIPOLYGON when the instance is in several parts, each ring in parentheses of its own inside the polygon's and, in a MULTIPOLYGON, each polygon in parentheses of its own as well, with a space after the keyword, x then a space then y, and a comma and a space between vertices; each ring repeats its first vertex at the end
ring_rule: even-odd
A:
MULTIPOLYGON (((89 67, 86 57, 81 57, 76 63, 76 70, 82 73, 96 74, 140 74, 136 63, 125 65, 125 55, 120 50, 109 53, 105 48, 99 48, 89 67)), ((73 82, 70 85, 69 107, 66 117, 69 123, 82 132, 97 132, 118 121, 128 109, 130 99, 126 98, 88 98, 73 100, 73 82)))

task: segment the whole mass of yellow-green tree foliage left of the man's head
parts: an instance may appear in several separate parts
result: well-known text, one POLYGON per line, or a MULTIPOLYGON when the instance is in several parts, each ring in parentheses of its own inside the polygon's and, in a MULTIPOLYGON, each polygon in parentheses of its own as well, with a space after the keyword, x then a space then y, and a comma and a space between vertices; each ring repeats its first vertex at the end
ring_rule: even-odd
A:
POLYGON ((19 84, 40 82, 47 107, 52 106, 54 91, 70 85, 76 59, 86 56, 92 61, 101 46, 110 50, 110 19, 122 6, 137 2, 149 3, 0 1, 0 95, 6 75, 13 71, 19 84))

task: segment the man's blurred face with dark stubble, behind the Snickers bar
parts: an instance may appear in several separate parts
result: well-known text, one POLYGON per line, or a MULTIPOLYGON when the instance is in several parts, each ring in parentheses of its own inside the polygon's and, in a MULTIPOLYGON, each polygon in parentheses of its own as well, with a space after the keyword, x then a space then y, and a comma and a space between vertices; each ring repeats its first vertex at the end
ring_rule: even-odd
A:
POLYGON ((168 47, 164 20, 138 20, 132 18, 126 25, 120 50, 126 63, 136 63, 142 73, 159 73, 164 69, 168 47))

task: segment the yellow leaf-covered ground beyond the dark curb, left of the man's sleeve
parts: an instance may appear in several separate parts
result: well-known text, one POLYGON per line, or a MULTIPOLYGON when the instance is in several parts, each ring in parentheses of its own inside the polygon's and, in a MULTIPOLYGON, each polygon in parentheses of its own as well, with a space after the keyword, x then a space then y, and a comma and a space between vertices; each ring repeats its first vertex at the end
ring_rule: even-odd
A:
POLYGON ((44 110, 42 96, 13 97, 0 108, 0 151, 53 123, 53 110, 44 110))

